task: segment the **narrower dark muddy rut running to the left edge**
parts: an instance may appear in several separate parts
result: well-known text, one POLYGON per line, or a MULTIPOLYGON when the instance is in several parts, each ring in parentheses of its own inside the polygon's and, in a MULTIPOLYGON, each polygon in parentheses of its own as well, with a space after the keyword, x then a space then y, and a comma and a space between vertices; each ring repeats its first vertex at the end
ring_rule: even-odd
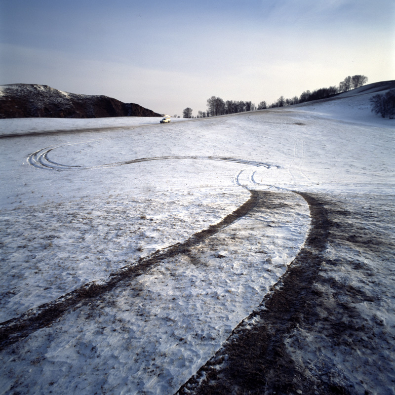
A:
POLYGON ((68 311, 88 304, 93 298, 121 286, 124 281, 147 273, 150 269, 159 265, 161 261, 180 253, 187 253, 191 247, 203 242, 250 213, 263 197, 262 193, 257 191, 251 191, 250 194, 250 198, 233 213, 227 215, 219 223, 210 225, 207 229, 194 234, 186 241, 158 250, 137 262, 124 266, 105 280, 91 281, 52 302, 30 309, 21 316, 3 322, 0 325, 0 349, 27 337, 30 333, 42 327, 50 325, 68 311))

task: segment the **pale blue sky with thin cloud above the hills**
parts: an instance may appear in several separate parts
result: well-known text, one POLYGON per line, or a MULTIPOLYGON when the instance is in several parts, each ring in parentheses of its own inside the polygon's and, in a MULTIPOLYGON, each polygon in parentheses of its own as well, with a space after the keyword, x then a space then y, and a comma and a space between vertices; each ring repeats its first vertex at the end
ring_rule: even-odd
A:
POLYGON ((0 84, 161 114, 395 79, 395 0, 0 0, 0 84))

